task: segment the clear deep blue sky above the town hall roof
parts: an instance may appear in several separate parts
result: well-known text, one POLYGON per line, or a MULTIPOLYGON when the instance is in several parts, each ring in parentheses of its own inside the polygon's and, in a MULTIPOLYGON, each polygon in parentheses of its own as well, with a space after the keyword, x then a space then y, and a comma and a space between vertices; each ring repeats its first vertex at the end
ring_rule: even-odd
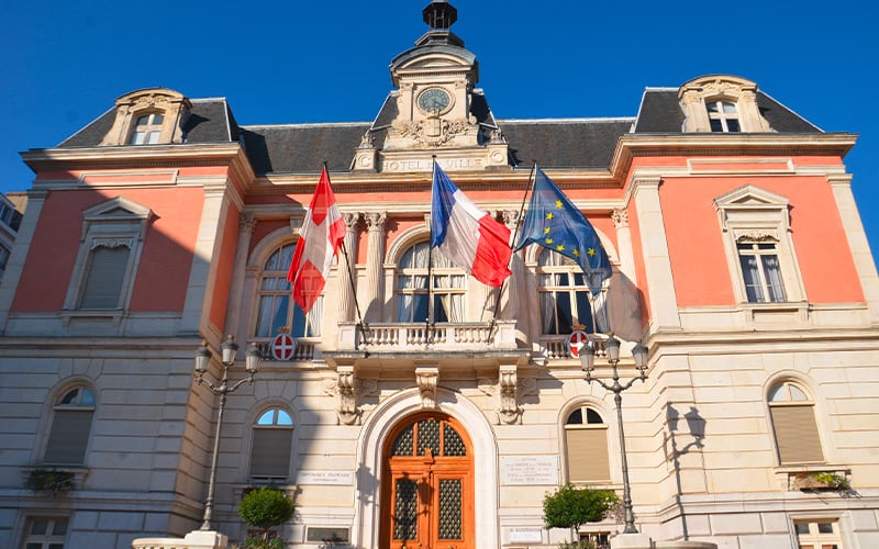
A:
MULTIPOLYGON (((429 0, 8 2, 0 21, 0 191, 140 88, 227 98, 241 124, 370 121, 429 0), (159 8, 159 5, 162 5, 159 8)), ((738 3, 453 0, 499 119, 632 116, 645 87, 732 74, 827 132, 879 254, 879 40, 863 0, 738 3)))

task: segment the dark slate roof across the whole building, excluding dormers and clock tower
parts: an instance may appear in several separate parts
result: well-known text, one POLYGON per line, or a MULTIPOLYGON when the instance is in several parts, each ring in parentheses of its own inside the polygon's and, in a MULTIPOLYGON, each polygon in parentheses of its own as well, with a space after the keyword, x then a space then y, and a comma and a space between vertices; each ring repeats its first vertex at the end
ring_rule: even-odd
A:
MULTIPOLYGON (((226 100, 191 100, 183 124, 186 143, 241 143, 254 171, 265 173, 319 172, 324 161, 332 171, 352 169, 355 149, 367 131, 381 147, 390 123, 397 117, 397 91, 386 98, 375 121, 332 124, 238 126, 226 100)), ((821 133, 821 130, 771 97, 757 92, 757 104, 779 133, 821 133)), ((636 134, 680 134, 683 111, 677 88, 648 88, 637 116, 617 119, 496 120, 481 90, 475 90, 471 114, 481 127, 480 142, 500 127, 510 149, 512 166, 607 168, 617 138, 636 134)), ((59 147, 97 147, 110 131, 115 108, 68 137, 59 147)))

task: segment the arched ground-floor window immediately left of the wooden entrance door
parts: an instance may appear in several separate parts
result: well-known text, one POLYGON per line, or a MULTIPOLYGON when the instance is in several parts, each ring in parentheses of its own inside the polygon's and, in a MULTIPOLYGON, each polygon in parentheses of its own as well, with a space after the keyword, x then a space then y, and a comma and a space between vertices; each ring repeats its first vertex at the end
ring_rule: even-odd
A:
POLYGON ((252 479, 287 479, 293 441, 293 419, 281 408, 270 408, 254 423, 251 446, 252 479))

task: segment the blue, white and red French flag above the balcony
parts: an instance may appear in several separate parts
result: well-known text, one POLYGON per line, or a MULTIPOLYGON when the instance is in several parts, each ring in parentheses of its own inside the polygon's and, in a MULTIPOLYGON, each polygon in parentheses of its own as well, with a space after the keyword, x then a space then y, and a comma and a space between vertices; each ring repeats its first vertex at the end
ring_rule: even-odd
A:
POLYGON ((431 247, 487 285, 510 276, 510 229, 478 209, 434 163, 431 247))

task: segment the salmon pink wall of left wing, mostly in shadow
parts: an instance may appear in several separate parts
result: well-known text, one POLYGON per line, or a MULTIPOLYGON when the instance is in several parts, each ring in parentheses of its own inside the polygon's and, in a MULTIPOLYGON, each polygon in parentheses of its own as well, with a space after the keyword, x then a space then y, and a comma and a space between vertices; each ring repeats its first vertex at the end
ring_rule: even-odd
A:
POLYGON ((124 197, 153 211, 147 226, 132 311, 179 311, 201 215, 196 188, 52 191, 27 251, 12 311, 60 311, 70 285, 82 233, 82 211, 124 197))

